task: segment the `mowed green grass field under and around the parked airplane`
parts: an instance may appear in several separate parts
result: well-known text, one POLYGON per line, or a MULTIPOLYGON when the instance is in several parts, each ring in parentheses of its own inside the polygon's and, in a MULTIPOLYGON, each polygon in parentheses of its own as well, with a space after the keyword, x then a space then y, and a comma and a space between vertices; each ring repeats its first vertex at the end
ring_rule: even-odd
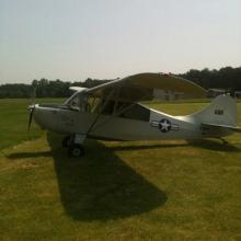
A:
POLYGON ((12 103, 0 101, 0 240, 241 240, 240 135, 228 146, 88 140, 87 157, 69 159, 60 136, 26 136, 26 101, 12 103))

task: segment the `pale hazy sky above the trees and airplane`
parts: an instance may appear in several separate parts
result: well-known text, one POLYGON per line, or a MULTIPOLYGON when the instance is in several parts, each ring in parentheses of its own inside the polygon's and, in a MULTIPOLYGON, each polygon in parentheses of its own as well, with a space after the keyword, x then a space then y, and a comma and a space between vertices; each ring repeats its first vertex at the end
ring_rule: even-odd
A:
POLYGON ((241 0, 0 0, 0 84, 241 66, 241 0))

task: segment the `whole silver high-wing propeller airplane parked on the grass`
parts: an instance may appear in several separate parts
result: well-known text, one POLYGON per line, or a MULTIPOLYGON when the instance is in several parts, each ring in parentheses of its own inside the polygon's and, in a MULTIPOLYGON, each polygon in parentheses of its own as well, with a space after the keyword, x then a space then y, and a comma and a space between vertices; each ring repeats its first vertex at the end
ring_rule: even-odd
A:
POLYGON ((179 92, 184 99, 206 96, 205 89, 173 74, 145 72, 90 89, 70 89, 74 93, 62 105, 28 106, 28 130, 34 117, 42 128, 66 135, 62 147, 68 148, 70 157, 84 156, 87 138, 221 139, 241 133, 237 126, 237 104, 229 94, 217 96, 206 108, 186 116, 172 116, 140 103, 153 100, 160 91, 179 92))

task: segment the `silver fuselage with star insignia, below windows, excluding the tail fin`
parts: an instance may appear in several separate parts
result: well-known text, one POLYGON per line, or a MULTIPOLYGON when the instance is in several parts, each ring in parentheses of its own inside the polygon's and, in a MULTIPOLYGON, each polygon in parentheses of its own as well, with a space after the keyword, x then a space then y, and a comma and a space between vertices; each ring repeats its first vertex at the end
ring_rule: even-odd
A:
MULTIPOLYGON (((171 116, 146 106, 144 108, 145 117, 135 117, 95 114, 65 105, 35 105, 34 119, 41 127, 51 131, 87 135, 97 139, 200 139, 210 136, 204 131, 198 119, 192 116, 171 116)), ((225 134, 213 133, 211 136, 225 134)))

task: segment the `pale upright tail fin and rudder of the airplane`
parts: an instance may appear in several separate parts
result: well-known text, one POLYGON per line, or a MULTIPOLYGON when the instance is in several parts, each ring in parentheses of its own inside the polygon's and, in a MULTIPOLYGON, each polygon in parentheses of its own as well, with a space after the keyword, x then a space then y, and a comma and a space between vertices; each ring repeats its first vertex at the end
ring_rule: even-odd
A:
POLYGON ((241 128, 237 126, 237 103, 228 94, 217 96, 209 106, 191 117, 209 130, 241 131, 241 128))

